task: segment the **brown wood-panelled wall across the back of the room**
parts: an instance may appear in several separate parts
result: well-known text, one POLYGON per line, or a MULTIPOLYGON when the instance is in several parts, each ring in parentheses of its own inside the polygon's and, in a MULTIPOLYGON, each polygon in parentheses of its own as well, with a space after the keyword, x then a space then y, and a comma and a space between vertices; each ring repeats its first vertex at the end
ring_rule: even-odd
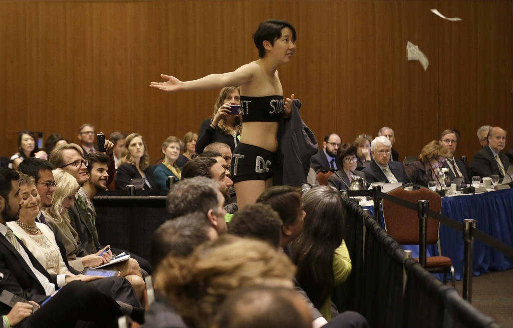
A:
POLYGON ((321 141, 387 125, 407 156, 452 127, 462 132, 458 153, 471 155, 479 126, 513 129, 511 1, 2 1, 0 154, 15 152, 23 129, 76 141, 87 121, 106 134, 141 133, 156 160, 165 137, 198 130, 219 90, 169 94, 149 81, 257 59, 251 35, 271 17, 297 28, 280 79, 321 141), (429 58, 427 71, 406 61, 408 40, 429 58))

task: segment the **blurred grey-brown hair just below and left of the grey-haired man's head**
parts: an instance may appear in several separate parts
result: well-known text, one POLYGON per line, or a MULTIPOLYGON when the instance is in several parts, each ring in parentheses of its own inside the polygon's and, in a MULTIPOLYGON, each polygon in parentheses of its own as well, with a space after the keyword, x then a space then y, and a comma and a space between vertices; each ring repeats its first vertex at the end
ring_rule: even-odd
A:
POLYGON ((188 257, 196 246, 210 240, 205 219, 205 213, 194 212, 162 223, 151 238, 151 266, 157 268, 169 255, 188 257))

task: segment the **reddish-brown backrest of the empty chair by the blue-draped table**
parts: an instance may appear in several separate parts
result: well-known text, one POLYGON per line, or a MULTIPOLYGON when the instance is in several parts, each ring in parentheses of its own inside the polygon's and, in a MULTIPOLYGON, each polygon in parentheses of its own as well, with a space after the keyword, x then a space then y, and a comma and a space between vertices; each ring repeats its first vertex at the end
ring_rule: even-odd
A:
MULTIPOLYGON (((442 198, 440 195, 426 188, 413 191, 398 188, 388 194, 412 203, 417 203, 419 199, 427 199, 429 200, 429 208, 438 213, 440 213, 442 208, 442 198)), ((385 230, 398 243, 407 245, 419 244, 419 217, 417 211, 383 200, 383 219, 385 221, 385 230)), ((426 244, 438 242, 439 227, 440 222, 431 217, 427 218, 426 244)))

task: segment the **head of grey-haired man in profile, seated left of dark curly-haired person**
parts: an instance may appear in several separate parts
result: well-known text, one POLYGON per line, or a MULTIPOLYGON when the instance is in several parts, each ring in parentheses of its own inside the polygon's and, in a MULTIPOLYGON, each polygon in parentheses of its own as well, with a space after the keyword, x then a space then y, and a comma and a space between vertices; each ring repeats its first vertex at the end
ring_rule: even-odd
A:
POLYGON ((224 197, 219 191, 218 183, 203 176, 176 183, 169 191, 166 201, 169 219, 194 212, 205 215, 209 236, 222 235, 226 232, 226 211, 223 204, 224 197))

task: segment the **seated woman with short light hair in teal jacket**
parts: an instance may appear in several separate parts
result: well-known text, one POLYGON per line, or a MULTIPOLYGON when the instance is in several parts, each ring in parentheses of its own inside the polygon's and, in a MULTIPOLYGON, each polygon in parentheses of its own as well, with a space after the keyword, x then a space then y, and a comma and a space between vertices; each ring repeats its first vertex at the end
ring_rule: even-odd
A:
POLYGON ((177 137, 167 137, 162 143, 161 150, 164 160, 153 171, 156 185, 159 189, 167 190, 168 176, 174 177, 174 182, 182 178, 182 168, 176 165, 176 159, 180 156, 182 149, 181 140, 177 137))

